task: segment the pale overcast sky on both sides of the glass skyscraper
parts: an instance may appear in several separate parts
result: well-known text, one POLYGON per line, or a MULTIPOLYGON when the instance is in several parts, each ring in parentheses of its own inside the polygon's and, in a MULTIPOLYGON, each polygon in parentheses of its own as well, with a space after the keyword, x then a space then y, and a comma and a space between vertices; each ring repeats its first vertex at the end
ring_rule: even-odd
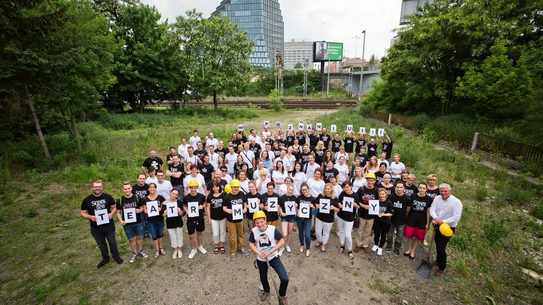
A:
MULTIPOLYGON (((155 5, 161 21, 185 15, 196 8, 209 16, 220 0, 141 0, 155 5)), ((400 27, 402 0, 279 0, 285 24, 285 40, 312 39, 313 41, 343 42, 343 55, 362 57, 363 30, 366 30, 364 59, 371 54, 381 58, 395 36, 394 28, 400 27), (362 37, 353 39, 352 37, 362 37), (356 43, 358 41, 358 43, 356 43)))

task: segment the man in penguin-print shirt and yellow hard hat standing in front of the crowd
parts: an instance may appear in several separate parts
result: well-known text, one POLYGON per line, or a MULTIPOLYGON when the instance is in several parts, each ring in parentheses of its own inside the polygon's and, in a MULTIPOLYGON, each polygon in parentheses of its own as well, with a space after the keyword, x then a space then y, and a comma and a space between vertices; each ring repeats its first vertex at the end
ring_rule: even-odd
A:
POLYGON ((266 224, 266 214, 263 211, 256 211, 252 219, 255 220, 255 227, 252 228, 249 235, 249 247, 258 256, 256 257, 256 265, 260 274, 260 282, 264 292, 260 296, 261 301, 266 301, 270 293, 270 285, 268 282, 268 263, 279 276, 281 283, 279 284, 279 297, 283 305, 288 305, 286 298, 288 287, 288 275, 285 266, 281 263, 279 252, 285 245, 283 236, 275 226, 266 224), (268 263, 266 263, 268 260, 268 263))

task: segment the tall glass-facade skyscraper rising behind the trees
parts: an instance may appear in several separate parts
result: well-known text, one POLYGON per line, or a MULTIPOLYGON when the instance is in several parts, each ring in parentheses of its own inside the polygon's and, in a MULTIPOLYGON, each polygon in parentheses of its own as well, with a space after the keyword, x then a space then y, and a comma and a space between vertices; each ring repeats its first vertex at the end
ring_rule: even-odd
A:
POLYGON ((255 41, 249 62, 252 66, 275 67, 275 51, 283 54, 283 17, 277 0, 223 0, 213 16, 230 17, 247 40, 255 41))

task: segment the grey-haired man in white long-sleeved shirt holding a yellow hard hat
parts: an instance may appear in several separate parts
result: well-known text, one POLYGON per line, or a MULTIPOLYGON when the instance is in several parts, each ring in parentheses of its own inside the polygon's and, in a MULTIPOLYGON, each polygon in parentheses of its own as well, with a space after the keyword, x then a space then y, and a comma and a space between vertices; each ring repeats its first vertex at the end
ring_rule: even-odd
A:
POLYGON ((442 276, 447 266, 447 252, 445 248, 449 239, 458 225, 462 216, 462 202, 451 195, 451 186, 447 183, 439 185, 439 196, 435 196, 430 206, 430 216, 434 219, 432 223, 439 225, 439 230, 435 230, 435 250, 437 255, 432 265, 439 266, 435 271, 435 276, 442 276))

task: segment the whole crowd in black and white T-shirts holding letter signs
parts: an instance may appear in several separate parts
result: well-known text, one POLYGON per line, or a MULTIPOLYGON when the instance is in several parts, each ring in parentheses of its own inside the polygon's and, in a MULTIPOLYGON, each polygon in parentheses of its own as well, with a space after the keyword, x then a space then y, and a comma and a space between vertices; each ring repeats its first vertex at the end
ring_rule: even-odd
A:
MULTIPOLYGON (((137 257, 148 257, 142 248, 146 236, 153 240, 154 258, 166 255, 162 245, 165 219, 172 258, 182 257, 184 224, 191 244, 188 258, 198 251, 205 254, 202 232, 207 223, 213 232, 214 254, 225 253, 228 232, 232 260, 239 253, 255 252, 258 267, 265 265, 267 270, 263 262, 268 259, 280 275, 282 297, 288 277, 279 257, 284 251, 291 252, 293 231, 298 231, 299 251, 306 257, 312 249, 326 253, 334 230, 339 235, 339 253, 347 252, 350 259, 361 249, 382 255, 393 247, 399 256, 404 238, 407 249, 403 255, 414 259, 419 243, 426 244, 431 223, 446 223, 454 231, 462 203, 451 195, 449 185, 438 186, 433 174, 426 182, 415 184, 416 177, 409 174, 400 155, 392 154, 392 139, 386 132, 384 136, 383 140, 348 131, 332 136, 326 128, 320 134, 291 130, 285 135, 281 128, 272 134, 262 125, 260 136, 254 129, 248 137, 239 131, 225 146, 212 133, 201 141, 194 130, 188 141, 181 139, 177 149, 169 148, 166 163, 151 150, 137 183, 124 182, 124 195, 117 201, 103 193, 101 181, 92 183, 92 194, 81 204, 81 216, 90 220, 91 234, 102 252, 98 268, 110 260, 107 244, 113 259, 119 264, 123 261, 116 247, 114 214, 130 241, 131 263, 137 257), (377 141, 382 146, 380 155, 377 141), (370 207, 376 204, 377 209, 370 207), (102 218, 107 212, 109 222, 100 219, 98 224, 98 210, 102 218), (250 230, 248 251, 243 240, 245 219, 250 230), (276 229, 279 220, 281 233, 276 229)), ((449 238, 436 231, 436 276, 443 275, 446 268, 449 238)), ((263 277, 266 271, 263 275, 261 270, 267 296, 269 285, 263 277)))

